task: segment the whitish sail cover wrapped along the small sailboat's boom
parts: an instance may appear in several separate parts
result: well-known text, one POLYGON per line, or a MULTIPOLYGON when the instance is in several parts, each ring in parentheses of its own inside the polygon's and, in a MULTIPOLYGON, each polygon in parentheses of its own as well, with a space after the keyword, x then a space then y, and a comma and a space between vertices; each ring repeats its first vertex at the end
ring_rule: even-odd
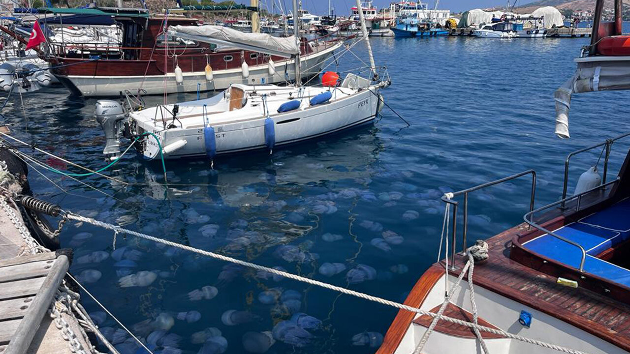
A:
POLYGON ((224 26, 169 26, 169 35, 199 42, 227 45, 279 57, 297 55, 300 49, 295 36, 280 38, 265 33, 244 33, 224 26))

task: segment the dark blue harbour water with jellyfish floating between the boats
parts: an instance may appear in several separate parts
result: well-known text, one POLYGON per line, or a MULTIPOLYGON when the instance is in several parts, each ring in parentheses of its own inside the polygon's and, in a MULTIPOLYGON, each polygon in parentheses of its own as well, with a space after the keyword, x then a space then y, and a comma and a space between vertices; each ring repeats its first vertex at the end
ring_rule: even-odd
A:
MULTIPOLYGON (((553 134, 553 92, 573 74, 572 59, 587 38, 371 42, 377 64, 391 74, 384 98, 410 127, 386 108, 373 126, 272 155, 221 157, 214 170, 208 161, 167 161, 168 187, 161 185, 159 163, 129 154, 106 174, 135 185, 99 176, 79 183, 38 168, 43 175, 31 169, 31 188, 37 197, 79 214, 403 301, 438 258, 445 191, 536 169, 536 205, 541 206, 561 195, 566 154, 630 130, 626 93, 588 93, 571 102, 571 139, 553 134)), ((356 52, 367 60, 365 48, 356 52)), ((347 55, 337 69, 357 64, 347 55)), ((14 95, 2 111, 13 135, 89 168, 105 166, 95 99, 53 88, 22 100, 24 109, 14 95)), ((147 103, 162 100, 151 97, 147 103)), ((610 176, 627 149, 623 140, 614 145, 610 176)), ((575 158, 569 191, 599 153, 575 158)), ((523 178, 471 194, 469 241, 522 222, 529 185, 523 178)), ((149 341, 157 350, 243 353, 244 338, 264 349, 268 337, 251 332, 276 327, 282 340, 268 353, 373 353, 378 343, 370 347, 361 334, 384 334, 397 312, 132 236, 119 234, 114 244, 112 232, 87 224, 69 222, 60 237, 62 246, 75 250, 71 272, 138 336, 154 333, 149 341), (214 297, 212 287, 218 290, 214 297), (202 295, 212 299, 194 300, 202 295), (296 312, 321 325, 309 317, 299 323, 314 328, 282 322, 296 312), (217 340, 215 330, 199 333, 207 328, 219 329, 225 341, 217 340), (155 333, 158 329, 170 335, 155 333), (210 336, 214 339, 204 345, 210 336)), ((85 295, 83 302, 88 311, 101 311, 85 295)), ((109 316, 95 317, 105 319, 100 326, 110 328, 105 332, 121 353, 136 352, 127 336, 112 334, 119 326, 109 316)))

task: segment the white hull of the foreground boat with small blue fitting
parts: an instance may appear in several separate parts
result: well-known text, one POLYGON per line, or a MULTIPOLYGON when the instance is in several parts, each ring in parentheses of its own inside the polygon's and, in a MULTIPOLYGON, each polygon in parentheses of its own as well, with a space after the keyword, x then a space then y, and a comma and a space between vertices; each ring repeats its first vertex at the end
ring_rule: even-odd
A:
MULTIPOLYGON (((449 283, 455 281, 455 277, 449 277, 449 283)), ((549 316, 544 312, 537 311, 523 304, 507 299, 486 288, 474 286, 475 302, 479 313, 479 318, 483 318, 494 326, 518 334, 527 338, 533 338, 546 343, 564 346, 573 350, 580 350, 590 354, 621 354, 626 351, 602 340, 593 334, 587 333, 575 326, 560 321, 556 317, 549 316), (518 323, 517 319, 520 311, 527 311, 532 314, 534 321, 530 328, 525 328, 518 323)), ((444 302, 444 275, 433 285, 432 290, 427 295, 420 308, 430 311, 444 302)), ((472 312, 468 284, 462 281, 459 288, 455 290, 451 302, 466 311, 472 312)), ((416 318, 418 316, 416 315, 416 318)), ((419 324, 412 323, 404 334, 403 340, 394 353, 413 353, 420 338, 427 328, 419 324)), ((484 340, 490 353, 501 354, 557 354, 560 351, 544 348, 534 344, 524 343, 509 338, 495 338, 484 340)), ((435 331, 429 337, 422 353, 426 354, 477 354, 480 353, 479 344, 473 338, 462 338, 455 335, 440 333, 435 331)))

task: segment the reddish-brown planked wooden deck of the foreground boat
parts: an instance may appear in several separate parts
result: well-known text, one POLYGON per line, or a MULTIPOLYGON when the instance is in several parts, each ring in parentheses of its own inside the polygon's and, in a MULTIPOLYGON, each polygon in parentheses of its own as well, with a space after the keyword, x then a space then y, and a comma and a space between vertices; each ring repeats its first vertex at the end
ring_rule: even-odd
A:
MULTIPOLYGON (((583 287, 559 285, 557 277, 511 260, 512 239, 525 232, 522 224, 486 240, 490 258, 475 265, 473 282, 630 351, 630 306, 583 287)), ((458 257, 455 265, 461 269, 466 260, 458 257)), ((442 265, 432 267, 444 271, 442 265)))

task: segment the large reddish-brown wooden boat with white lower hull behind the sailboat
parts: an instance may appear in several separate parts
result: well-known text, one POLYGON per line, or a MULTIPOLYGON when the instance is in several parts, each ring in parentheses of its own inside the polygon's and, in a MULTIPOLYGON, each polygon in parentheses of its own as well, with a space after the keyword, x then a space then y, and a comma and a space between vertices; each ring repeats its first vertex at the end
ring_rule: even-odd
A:
MULTIPOLYGON (((199 8, 199 11, 212 11, 213 6, 199 8)), ((289 58, 234 49, 226 43, 210 45, 183 40, 164 30, 166 25, 198 26, 195 19, 172 14, 150 17, 144 10, 47 8, 44 11, 90 15, 112 21, 122 30, 122 42, 117 45, 50 43, 45 59, 53 67, 52 74, 82 96, 120 96, 125 90, 140 90, 144 94, 212 91, 226 89, 232 83, 285 83, 289 77, 295 77, 289 58)), ((241 33, 222 28, 230 35, 241 33)), ((341 38, 303 39, 301 79, 316 75, 341 45, 341 38)))

